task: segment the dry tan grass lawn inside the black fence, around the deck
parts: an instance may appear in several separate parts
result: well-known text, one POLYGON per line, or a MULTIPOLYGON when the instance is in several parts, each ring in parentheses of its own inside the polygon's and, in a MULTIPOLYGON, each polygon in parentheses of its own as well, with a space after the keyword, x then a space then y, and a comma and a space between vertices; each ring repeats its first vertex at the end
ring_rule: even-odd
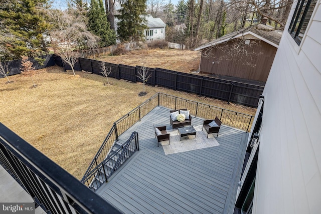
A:
POLYGON ((146 86, 87 72, 63 72, 57 66, 38 70, 32 80, 24 75, 0 79, 0 122, 80 179, 113 122, 157 92, 254 115, 255 109, 215 99, 146 86))

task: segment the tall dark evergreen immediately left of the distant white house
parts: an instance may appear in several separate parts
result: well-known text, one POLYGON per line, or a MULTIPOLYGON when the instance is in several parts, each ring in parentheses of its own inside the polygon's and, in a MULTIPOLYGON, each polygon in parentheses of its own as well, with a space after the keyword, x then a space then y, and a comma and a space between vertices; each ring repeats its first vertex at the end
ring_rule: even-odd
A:
POLYGON ((144 30, 147 28, 146 20, 146 0, 126 0, 122 1, 119 15, 115 17, 119 20, 118 37, 122 42, 138 42, 144 39, 144 30))

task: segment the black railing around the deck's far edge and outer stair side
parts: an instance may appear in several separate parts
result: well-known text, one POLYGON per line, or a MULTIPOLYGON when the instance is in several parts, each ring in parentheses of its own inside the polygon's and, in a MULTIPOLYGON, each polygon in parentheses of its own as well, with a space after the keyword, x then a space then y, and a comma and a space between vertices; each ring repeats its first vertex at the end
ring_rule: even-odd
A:
MULTIPOLYGON (((222 109, 219 107, 211 106, 204 103, 164 94, 157 93, 151 98, 134 108, 128 114, 117 120, 111 130, 109 131, 106 139, 99 148, 97 154, 89 165, 82 180, 86 180, 95 168, 103 162, 108 153, 110 152, 113 144, 118 140, 118 136, 124 133, 127 129, 133 126, 136 122, 140 121, 142 117, 147 115, 151 110, 157 106, 164 106, 171 109, 189 109, 190 114, 195 117, 204 119, 212 119, 217 116, 220 118, 224 125, 238 128, 248 132, 251 128, 254 116, 222 109)), ((87 184, 88 185, 88 184, 87 184)))

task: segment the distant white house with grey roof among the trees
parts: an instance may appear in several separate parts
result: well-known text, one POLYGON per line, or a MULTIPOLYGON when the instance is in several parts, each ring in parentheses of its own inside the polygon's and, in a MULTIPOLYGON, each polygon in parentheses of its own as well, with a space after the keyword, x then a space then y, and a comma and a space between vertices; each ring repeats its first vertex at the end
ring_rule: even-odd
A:
POLYGON ((147 20, 148 29, 145 30, 145 37, 147 41, 164 40, 166 24, 161 18, 153 18, 150 15, 145 17, 147 20))

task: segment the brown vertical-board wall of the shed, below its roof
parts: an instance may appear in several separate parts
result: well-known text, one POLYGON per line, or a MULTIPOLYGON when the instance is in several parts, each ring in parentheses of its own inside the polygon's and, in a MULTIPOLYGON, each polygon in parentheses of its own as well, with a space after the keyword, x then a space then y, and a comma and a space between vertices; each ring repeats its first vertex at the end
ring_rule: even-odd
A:
POLYGON ((233 49, 236 41, 239 42, 239 39, 220 44, 212 49, 203 49, 200 72, 265 82, 277 48, 260 40, 250 40, 249 46, 243 45, 248 56, 245 52, 237 51, 231 52, 233 55, 231 56, 230 51, 226 50, 233 49), (226 48, 222 50, 224 46, 226 48))

